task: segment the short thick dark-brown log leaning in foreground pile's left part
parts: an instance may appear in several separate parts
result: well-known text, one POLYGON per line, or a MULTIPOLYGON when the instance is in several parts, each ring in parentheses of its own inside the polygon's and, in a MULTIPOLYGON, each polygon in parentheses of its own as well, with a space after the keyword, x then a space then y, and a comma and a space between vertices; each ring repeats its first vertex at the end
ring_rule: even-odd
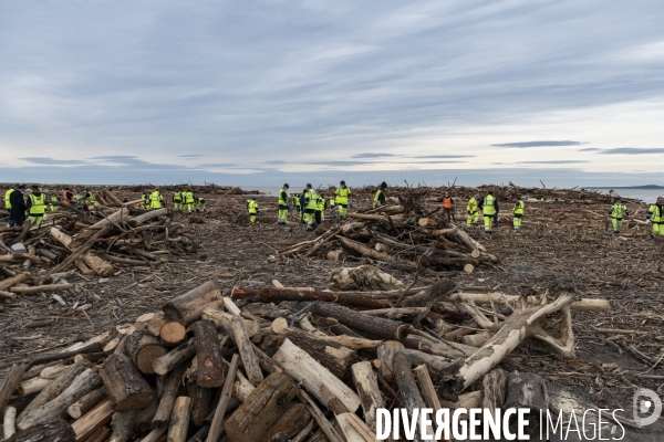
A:
POLYGON ((124 355, 108 356, 102 366, 101 375, 116 411, 141 410, 155 400, 155 393, 124 355))

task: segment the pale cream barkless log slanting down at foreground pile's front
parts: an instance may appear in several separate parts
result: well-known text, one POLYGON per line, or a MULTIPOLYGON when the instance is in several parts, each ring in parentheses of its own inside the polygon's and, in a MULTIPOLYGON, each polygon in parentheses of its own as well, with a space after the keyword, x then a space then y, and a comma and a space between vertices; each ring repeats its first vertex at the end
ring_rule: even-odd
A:
POLYGON ((355 412, 362 403, 353 390, 289 339, 272 359, 335 414, 355 412))

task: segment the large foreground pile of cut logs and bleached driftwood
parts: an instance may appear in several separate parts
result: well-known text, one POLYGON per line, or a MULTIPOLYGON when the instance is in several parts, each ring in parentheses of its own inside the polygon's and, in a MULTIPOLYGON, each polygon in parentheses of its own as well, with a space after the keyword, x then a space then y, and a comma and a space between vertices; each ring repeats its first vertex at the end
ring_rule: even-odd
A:
POLYGON ((608 309, 564 285, 523 297, 449 280, 380 292, 207 282, 13 366, 0 387, 4 436, 355 442, 375 440, 378 408, 543 409, 540 377, 495 367, 528 338, 573 357, 572 312, 608 309), (455 327, 455 315, 474 323, 455 327))

